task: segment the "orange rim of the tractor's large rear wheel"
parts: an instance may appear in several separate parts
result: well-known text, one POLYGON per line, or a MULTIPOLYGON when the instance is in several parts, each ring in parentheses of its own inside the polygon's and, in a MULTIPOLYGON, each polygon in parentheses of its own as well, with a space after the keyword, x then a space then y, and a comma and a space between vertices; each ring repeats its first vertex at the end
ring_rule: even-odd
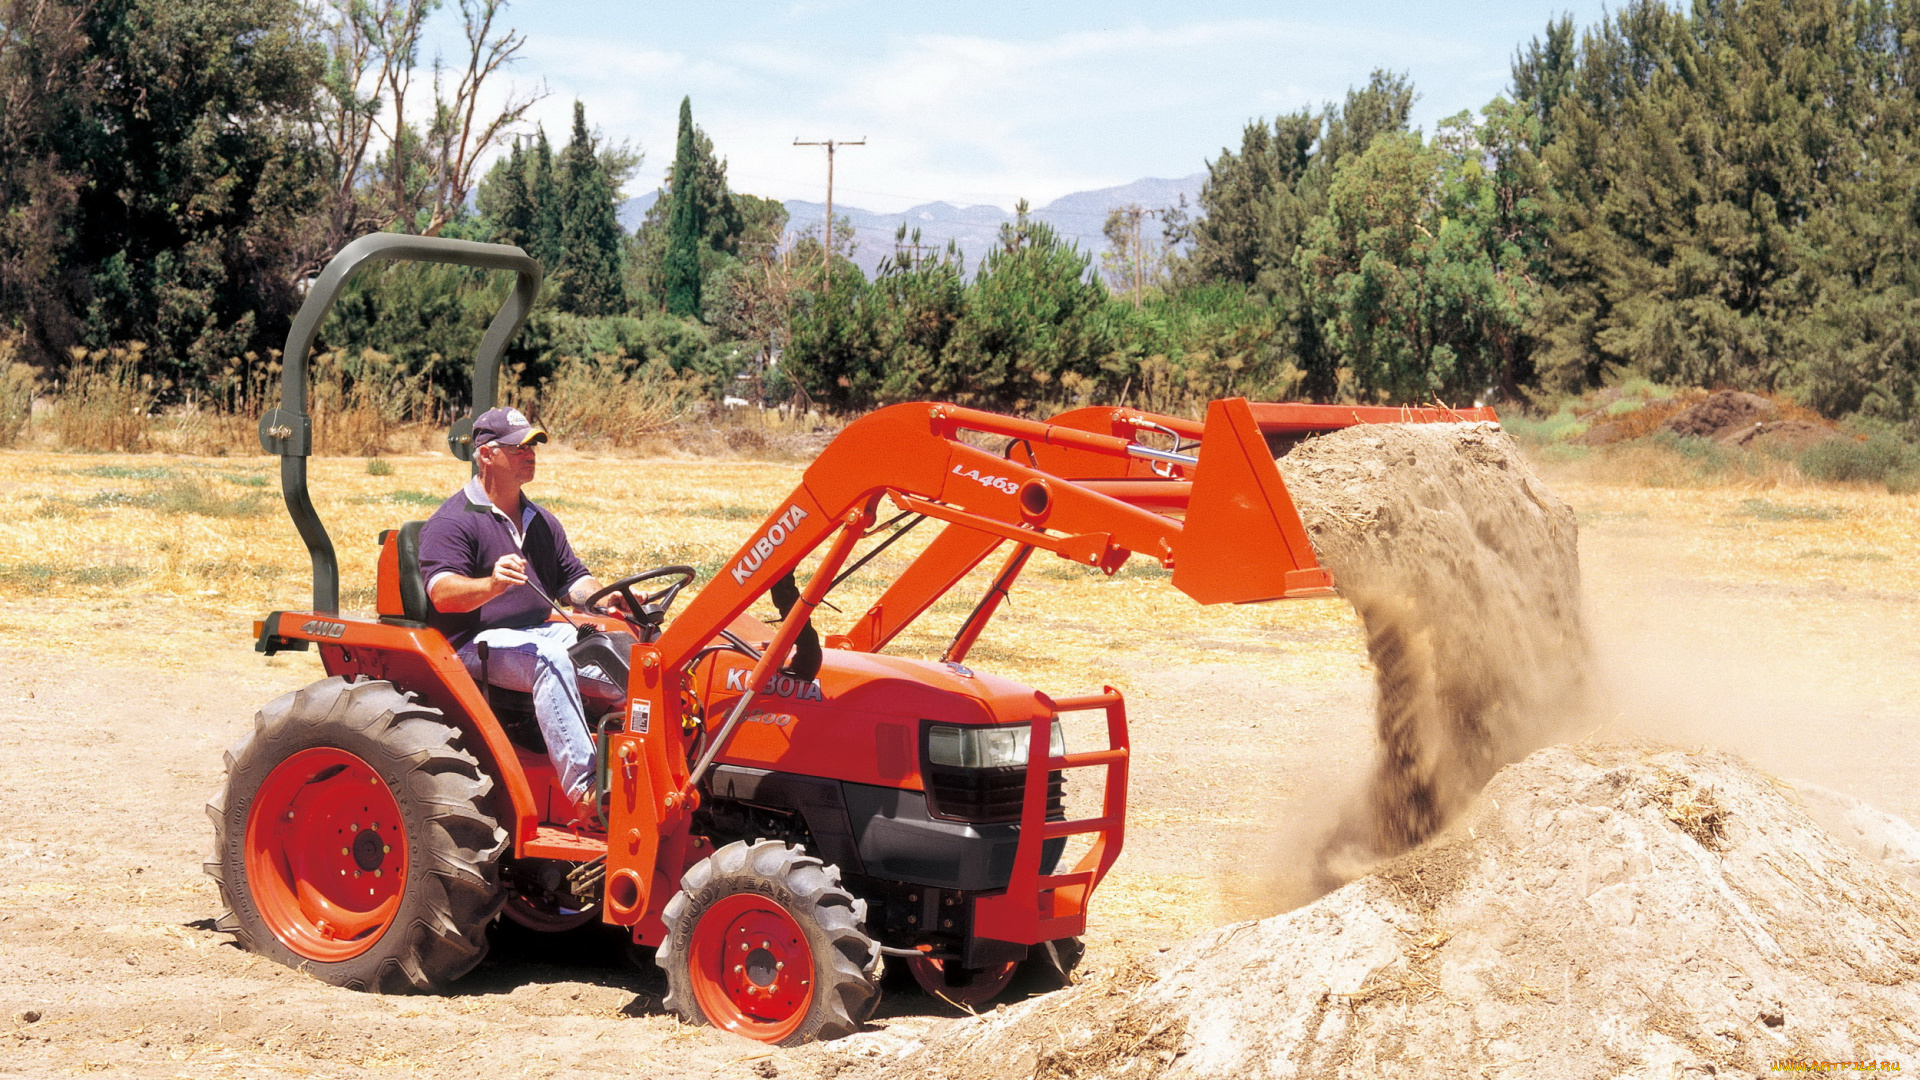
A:
POLYGON ((282 945, 309 961, 353 959, 394 924, 407 888, 399 801, 359 757, 301 749, 253 796, 246 878, 282 945))

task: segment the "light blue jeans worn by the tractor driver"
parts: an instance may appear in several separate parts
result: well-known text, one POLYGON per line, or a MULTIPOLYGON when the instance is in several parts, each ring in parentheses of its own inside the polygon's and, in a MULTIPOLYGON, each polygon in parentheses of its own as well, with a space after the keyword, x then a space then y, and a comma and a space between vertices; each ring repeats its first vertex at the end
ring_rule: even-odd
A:
POLYGON ((561 790, 580 801, 593 790, 593 736, 588 734, 574 659, 566 655, 580 634, 566 623, 480 630, 461 648, 461 661, 478 680, 480 651, 474 646, 486 642, 488 682, 534 696, 534 719, 547 740, 553 773, 561 778, 561 790))

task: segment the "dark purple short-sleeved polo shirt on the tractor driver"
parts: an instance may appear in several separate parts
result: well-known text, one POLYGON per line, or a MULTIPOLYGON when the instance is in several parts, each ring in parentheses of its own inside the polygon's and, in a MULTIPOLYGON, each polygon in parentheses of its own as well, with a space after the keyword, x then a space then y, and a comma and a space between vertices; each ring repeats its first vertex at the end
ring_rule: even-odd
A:
MULTIPOLYGON (((493 575, 501 555, 520 553, 528 571, 547 596, 564 603, 566 590, 588 577, 586 563, 566 542, 561 519, 543 505, 520 496, 520 521, 511 521, 492 500, 480 479, 472 479, 453 494, 420 527, 420 577, 432 592, 440 575, 484 578, 493 575)), ((426 625, 447 636, 459 650, 480 630, 499 626, 538 626, 553 609, 538 592, 520 584, 488 600, 474 611, 447 613, 428 600, 426 625)))

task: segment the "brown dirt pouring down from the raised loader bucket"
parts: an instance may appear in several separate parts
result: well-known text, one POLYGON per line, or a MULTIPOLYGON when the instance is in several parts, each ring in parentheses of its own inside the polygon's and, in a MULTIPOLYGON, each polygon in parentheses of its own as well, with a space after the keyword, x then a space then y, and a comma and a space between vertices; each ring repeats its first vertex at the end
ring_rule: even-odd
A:
POLYGON ((1444 826, 1580 715, 1572 509, 1498 425, 1354 427, 1281 459, 1323 565, 1367 625, 1379 763, 1309 853, 1309 899, 1444 826))

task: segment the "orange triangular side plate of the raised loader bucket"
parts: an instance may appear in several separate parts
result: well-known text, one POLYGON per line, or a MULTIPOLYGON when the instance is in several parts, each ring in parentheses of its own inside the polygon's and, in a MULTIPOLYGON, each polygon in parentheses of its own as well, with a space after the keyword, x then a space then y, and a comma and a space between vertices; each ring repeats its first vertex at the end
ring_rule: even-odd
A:
POLYGON ((1200 603, 1334 594, 1244 398, 1208 405, 1173 559, 1173 588, 1200 603))

